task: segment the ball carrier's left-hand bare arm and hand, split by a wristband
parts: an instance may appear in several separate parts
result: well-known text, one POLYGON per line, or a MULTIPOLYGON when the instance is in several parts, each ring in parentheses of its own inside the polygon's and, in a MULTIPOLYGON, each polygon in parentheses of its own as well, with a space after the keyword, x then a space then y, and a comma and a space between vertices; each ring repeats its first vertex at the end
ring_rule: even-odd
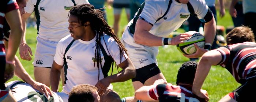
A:
MULTIPOLYGON (((134 41, 137 44, 142 44, 145 46, 162 46, 162 38, 151 34, 149 31, 153 26, 142 19, 138 19, 135 32, 134 32, 134 41)), ((189 34, 180 34, 172 38, 170 45, 177 45, 183 43, 183 40, 187 40, 189 34)))

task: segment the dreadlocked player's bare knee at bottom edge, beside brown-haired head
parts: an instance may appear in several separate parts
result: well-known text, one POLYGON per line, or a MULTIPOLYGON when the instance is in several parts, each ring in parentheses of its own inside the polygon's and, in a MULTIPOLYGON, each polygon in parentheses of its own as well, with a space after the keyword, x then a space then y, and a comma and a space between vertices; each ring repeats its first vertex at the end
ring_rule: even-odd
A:
POLYGON ((101 96, 100 102, 120 102, 119 95, 112 89, 107 89, 101 96))

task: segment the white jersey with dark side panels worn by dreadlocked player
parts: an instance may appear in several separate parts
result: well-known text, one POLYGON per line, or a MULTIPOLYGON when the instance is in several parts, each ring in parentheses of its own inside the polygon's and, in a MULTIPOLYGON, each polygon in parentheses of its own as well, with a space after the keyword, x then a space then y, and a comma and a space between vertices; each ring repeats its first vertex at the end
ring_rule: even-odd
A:
MULTIPOLYGON (((65 38, 61 39, 60 42, 57 44, 56 54, 54 56, 54 61, 59 64, 63 65, 64 63, 64 52, 69 45, 69 43, 73 40, 73 38, 68 35, 65 38)), ((103 73, 101 67, 98 67, 97 62, 95 63, 94 67, 94 55, 95 55, 95 42, 96 36, 94 39, 90 41, 83 41, 81 39, 75 40, 72 46, 69 48, 67 53, 65 54, 65 58, 67 61, 67 80, 66 84, 63 87, 64 93, 69 93, 72 87, 79 85, 79 84, 90 84, 95 85, 98 82, 98 74, 99 80, 103 79, 103 73)), ((125 56, 120 56, 120 50, 118 44, 114 40, 114 38, 110 37, 109 35, 104 35, 101 38, 101 44, 104 47, 106 53, 111 55, 116 64, 120 64, 124 60, 128 58, 127 54, 125 56), (104 43, 106 42, 106 46, 104 43), (108 50, 107 50, 108 49, 108 50), (120 61, 121 57, 121 61, 120 61)), ((105 59, 103 57, 101 51, 101 59, 102 59, 102 67, 104 66, 105 59)))

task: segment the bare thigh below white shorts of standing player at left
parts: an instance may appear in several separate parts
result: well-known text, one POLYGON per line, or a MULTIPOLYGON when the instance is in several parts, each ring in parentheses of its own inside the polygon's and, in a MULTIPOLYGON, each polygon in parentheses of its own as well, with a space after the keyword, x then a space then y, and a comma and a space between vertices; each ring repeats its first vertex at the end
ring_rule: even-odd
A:
POLYGON ((50 86, 50 68, 47 67, 34 67, 35 81, 50 86))

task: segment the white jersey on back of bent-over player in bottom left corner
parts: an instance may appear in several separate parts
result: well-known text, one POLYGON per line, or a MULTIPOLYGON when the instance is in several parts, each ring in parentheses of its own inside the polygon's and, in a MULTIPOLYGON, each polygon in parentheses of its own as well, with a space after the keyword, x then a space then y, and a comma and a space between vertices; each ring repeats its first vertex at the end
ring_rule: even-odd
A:
POLYGON ((10 88, 17 102, 68 102, 67 99, 63 100, 59 94, 53 91, 53 96, 47 98, 31 85, 22 81, 8 82, 7 87, 10 88))

